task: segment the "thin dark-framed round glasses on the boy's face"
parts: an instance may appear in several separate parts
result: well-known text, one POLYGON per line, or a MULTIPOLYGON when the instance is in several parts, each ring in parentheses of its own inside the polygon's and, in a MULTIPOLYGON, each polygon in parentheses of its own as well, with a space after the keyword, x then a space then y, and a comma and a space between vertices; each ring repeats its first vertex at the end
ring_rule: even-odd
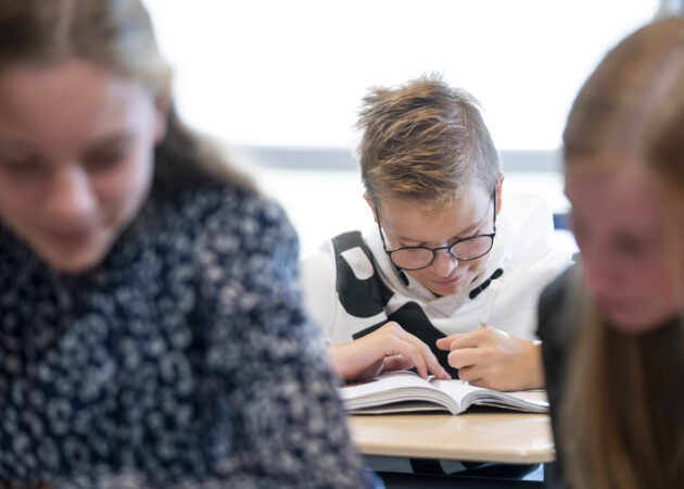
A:
POLYGON ((496 236, 496 187, 494 187, 493 201, 494 231, 491 234, 459 239, 446 247, 402 247, 393 250, 388 250, 384 236, 382 235, 382 227, 380 226, 378 206, 373 205, 376 222, 378 223, 378 230, 380 231, 380 239, 382 240, 382 248, 388 256, 390 256, 390 261, 396 267, 409 272, 430 266, 436 258, 436 252, 440 250, 446 250, 452 258, 458 260, 459 262, 467 262, 469 260, 482 258, 492 250, 492 247, 494 246, 494 237, 496 236))

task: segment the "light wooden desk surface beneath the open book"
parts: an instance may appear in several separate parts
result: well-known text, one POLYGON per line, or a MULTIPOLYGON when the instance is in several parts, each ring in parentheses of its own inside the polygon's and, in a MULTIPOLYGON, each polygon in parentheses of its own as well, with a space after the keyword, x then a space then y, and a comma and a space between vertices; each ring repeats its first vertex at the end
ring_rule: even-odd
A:
POLYGON ((382 414, 349 419, 352 438, 366 455, 501 463, 555 459, 546 414, 382 414))

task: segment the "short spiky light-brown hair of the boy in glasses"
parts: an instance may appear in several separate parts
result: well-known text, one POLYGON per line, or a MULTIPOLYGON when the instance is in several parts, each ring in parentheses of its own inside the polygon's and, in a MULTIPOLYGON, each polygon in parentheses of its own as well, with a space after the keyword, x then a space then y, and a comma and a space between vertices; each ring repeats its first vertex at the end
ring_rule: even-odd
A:
POLYGON ((490 192, 498 179, 498 154, 478 101, 439 77, 371 89, 356 127, 364 131, 362 179, 373 200, 443 203, 474 181, 490 192))

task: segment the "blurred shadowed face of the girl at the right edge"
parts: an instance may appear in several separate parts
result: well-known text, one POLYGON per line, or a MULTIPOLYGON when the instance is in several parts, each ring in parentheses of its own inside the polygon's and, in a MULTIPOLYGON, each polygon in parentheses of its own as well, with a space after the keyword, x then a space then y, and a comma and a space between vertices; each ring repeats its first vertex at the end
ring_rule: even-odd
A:
POLYGON ((667 209, 641 165, 607 163, 605 170, 566 173, 584 285, 616 328, 648 331, 677 311, 674 283, 684 276, 684 234, 681 226, 669 228, 667 216, 679 212, 682 222, 682 212, 667 209), (673 239, 679 249, 670 246, 673 239))

